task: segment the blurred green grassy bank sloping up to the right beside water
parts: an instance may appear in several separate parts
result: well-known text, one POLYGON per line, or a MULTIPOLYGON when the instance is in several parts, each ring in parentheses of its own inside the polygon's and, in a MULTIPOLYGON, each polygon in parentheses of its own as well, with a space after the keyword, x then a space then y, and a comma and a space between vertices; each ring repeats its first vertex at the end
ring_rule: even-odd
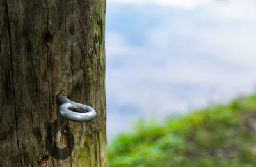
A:
POLYGON ((108 145, 108 166, 256 166, 256 96, 163 124, 140 120, 108 145))

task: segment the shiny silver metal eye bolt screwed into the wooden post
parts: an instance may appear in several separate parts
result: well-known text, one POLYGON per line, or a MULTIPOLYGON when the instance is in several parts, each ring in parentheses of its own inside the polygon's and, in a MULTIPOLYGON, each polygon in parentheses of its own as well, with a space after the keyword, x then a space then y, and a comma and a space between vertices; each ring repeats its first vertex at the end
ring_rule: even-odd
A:
POLYGON ((71 101, 63 94, 58 94, 56 101, 60 104, 58 112, 65 119, 75 122, 90 122, 97 115, 92 107, 71 101))

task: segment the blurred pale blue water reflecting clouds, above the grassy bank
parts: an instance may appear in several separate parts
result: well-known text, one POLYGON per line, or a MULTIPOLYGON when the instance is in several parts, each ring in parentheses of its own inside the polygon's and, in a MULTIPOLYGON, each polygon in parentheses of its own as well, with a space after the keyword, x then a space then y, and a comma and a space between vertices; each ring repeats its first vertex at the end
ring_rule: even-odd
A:
POLYGON ((252 0, 109 0, 108 138, 141 117, 162 120, 255 91, 255 8, 252 0))

